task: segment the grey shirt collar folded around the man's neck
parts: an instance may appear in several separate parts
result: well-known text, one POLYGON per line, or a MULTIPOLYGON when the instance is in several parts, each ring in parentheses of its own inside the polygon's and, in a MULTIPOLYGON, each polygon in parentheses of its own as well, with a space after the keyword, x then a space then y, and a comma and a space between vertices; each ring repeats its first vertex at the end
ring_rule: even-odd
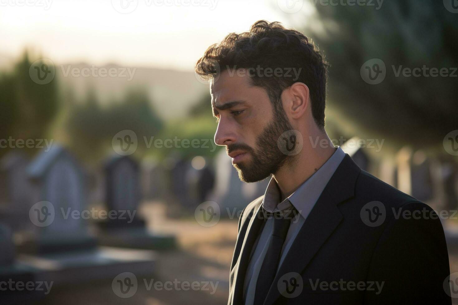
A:
POLYGON ((334 154, 310 178, 280 203, 280 189, 275 179, 271 178, 262 200, 262 208, 273 213, 287 209, 292 204, 306 218, 344 157, 344 151, 337 147, 334 154))

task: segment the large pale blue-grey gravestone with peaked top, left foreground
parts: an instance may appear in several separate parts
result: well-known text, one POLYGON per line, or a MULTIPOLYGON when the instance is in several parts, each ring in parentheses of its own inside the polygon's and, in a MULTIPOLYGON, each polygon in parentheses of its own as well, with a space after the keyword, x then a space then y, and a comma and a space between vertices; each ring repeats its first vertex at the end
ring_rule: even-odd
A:
POLYGON ((53 145, 29 164, 27 175, 36 187, 28 214, 36 234, 21 248, 45 253, 96 246, 87 220, 81 217, 86 196, 76 159, 62 146, 53 145))

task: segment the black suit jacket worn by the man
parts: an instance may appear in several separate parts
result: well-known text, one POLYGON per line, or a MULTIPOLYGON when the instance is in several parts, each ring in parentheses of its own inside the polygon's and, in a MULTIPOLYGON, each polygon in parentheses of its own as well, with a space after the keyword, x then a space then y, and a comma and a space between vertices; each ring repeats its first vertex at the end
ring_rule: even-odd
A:
MULTIPOLYGON (((240 215, 228 304, 244 303, 245 271, 263 222, 255 214, 262 198, 240 215)), ((264 304, 451 304, 447 245, 435 216, 428 205, 361 170, 345 155, 264 304)))

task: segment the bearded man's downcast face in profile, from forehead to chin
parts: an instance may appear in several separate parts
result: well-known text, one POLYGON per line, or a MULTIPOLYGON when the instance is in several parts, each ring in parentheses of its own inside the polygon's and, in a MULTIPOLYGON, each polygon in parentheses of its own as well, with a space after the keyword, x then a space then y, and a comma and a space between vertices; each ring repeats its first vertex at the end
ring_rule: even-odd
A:
POLYGON ((215 143, 226 145, 240 180, 256 182, 275 174, 284 164, 288 155, 279 150, 277 141, 293 127, 284 111, 273 111, 267 92, 250 84, 248 73, 232 72, 221 72, 210 86, 213 115, 218 121, 215 143))

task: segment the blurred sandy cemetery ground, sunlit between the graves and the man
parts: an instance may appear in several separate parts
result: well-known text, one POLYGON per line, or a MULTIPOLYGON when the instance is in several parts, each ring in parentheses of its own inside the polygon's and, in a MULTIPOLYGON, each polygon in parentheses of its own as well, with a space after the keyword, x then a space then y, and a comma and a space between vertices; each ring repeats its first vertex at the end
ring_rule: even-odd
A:
MULTIPOLYGON (((229 265, 237 233, 237 219, 221 219, 213 227, 203 227, 189 218, 170 219, 166 217, 164 203, 142 204, 142 215, 147 219, 154 233, 176 235, 175 250, 159 253, 154 273, 138 276, 138 290, 130 298, 120 298, 111 288, 111 279, 92 281, 80 285, 52 288, 49 295, 36 304, 60 305, 98 305, 98 304, 227 304, 229 291, 229 265), (148 286, 153 280, 153 286, 148 286), (147 285, 144 282, 147 282, 147 285), (154 282, 213 282, 202 290, 154 289, 154 282), (151 287, 148 289, 148 287, 151 287)), ((458 225, 458 222, 456 223, 458 225)), ((450 270, 458 270, 458 247, 449 249, 450 270)), ((129 270, 126 270, 127 272, 129 270)), ((201 285, 203 288, 203 285, 201 285)), ((458 299, 453 299, 458 304, 458 299)))

